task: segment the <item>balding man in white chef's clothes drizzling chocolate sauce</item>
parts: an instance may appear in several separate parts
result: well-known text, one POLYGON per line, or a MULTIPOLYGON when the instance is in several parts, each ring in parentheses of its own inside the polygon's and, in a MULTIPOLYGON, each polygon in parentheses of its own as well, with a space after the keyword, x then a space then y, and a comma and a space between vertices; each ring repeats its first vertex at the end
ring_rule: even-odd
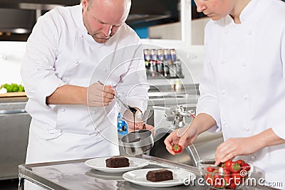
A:
POLYGON ((137 114, 148 98, 142 43, 125 23, 129 11, 130 0, 83 0, 38 19, 21 67, 32 117, 26 163, 119 154, 118 111, 128 110, 116 109, 114 95, 137 114))

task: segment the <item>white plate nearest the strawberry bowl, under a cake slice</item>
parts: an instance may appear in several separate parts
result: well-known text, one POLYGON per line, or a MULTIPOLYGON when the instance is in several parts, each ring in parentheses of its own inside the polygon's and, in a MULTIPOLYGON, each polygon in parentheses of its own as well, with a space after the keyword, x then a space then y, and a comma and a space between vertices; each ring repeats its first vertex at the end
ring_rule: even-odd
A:
POLYGON ((130 181, 134 184, 142 185, 142 186, 151 186, 151 187, 169 187, 169 186, 178 186, 184 184, 185 179, 196 178, 196 175, 190 171, 186 171, 184 169, 168 169, 172 171, 173 179, 167 181, 158 181, 152 182, 147 180, 147 171, 156 170, 159 168, 152 169, 138 169, 134 171, 128 171, 123 174, 123 179, 130 181))

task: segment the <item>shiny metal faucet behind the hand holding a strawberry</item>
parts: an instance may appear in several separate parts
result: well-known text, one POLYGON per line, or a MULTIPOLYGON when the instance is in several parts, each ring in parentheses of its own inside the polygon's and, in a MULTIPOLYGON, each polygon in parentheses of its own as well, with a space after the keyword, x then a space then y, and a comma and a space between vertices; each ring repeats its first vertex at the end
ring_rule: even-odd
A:
POLYGON ((185 117, 194 118, 194 114, 194 110, 186 111, 183 105, 177 105, 177 108, 174 111, 165 110, 165 119, 172 122, 172 127, 174 129, 177 129, 185 126, 185 117))

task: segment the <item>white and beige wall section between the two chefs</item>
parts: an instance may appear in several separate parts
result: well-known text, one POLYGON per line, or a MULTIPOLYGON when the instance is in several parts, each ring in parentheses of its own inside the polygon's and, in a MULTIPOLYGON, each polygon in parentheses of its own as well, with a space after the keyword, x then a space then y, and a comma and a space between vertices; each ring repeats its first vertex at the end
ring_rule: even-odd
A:
MULTIPOLYGON (((195 19, 191 22, 192 46, 181 41, 181 23, 167 23, 149 27, 150 39, 142 39, 145 48, 175 48, 182 60, 183 84, 199 83, 204 63, 204 27, 209 18, 195 19), (157 40, 155 40, 157 39, 157 40), (159 39, 159 40, 158 40, 159 39)), ((176 80, 149 80, 153 85, 168 85, 176 80)))

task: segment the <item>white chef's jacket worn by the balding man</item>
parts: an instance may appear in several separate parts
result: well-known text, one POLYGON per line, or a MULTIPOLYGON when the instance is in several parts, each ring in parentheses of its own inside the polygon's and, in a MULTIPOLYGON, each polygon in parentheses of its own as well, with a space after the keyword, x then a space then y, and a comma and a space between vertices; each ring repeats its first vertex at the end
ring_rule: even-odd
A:
MULTIPOLYGON (((83 25, 81 5, 58 7, 38 19, 28 38, 21 76, 29 98, 26 111, 32 117, 30 138, 35 135, 50 140, 62 134, 82 134, 85 136, 78 139, 84 137, 86 142, 94 142, 99 133, 99 142, 104 139, 118 147, 116 103, 106 107, 46 105, 46 97, 61 85, 88 87, 100 80, 113 86, 128 105, 142 111, 147 105, 148 85, 140 38, 124 23, 107 43, 95 42, 83 25)), ((88 146, 91 147, 89 144, 79 149, 90 149, 88 146)), ((36 152, 36 148, 29 150, 36 152)), ((92 149, 90 154, 78 157, 103 156, 101 153, 108 151, 100 149, 97 154, 92 149)))

